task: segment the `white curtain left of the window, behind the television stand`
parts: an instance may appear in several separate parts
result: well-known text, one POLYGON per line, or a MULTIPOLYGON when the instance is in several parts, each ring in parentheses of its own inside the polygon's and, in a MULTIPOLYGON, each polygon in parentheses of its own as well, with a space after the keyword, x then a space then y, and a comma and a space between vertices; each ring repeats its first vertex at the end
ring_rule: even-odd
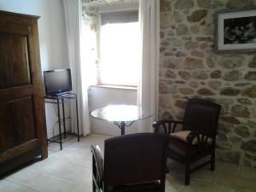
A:
MULTIPOLYGON (((86 65, 81 58, 81 24, 82 24, 82 3, 81 0, 62 0, 64 6, 68 64, 72 71, 73 90, 78 95, 79 107, 79 128, 80 134, 86 136, 90 133, 89 108, 87 89, 86 65)), ((75 105, 71 106, 71 127, 73 132, 77 132, 75 105)))

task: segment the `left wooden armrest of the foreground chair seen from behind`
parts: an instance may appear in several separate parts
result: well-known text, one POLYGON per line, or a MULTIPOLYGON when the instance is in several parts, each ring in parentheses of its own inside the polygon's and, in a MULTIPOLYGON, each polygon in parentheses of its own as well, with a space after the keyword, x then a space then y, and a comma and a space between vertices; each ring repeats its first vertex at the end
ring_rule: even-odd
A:
POLYGON ((90 145, 90 150, 96 163, 96 171, 98 172, 98 176, 102 181, 104 172, 104 160, 102 157, 101 149, 98 145, 90 145))

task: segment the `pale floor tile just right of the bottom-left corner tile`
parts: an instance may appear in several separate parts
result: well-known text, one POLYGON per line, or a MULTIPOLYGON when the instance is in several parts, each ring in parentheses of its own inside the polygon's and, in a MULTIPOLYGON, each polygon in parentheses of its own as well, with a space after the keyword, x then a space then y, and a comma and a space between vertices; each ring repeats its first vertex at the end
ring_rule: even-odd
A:
POLYGON ((79 189, 82 185, 61 177, 55 177, 27 168, 16 172, 5 179, 9 182, 18 183, 29 189, 34 189, 40 192, 73 191, 79 189))

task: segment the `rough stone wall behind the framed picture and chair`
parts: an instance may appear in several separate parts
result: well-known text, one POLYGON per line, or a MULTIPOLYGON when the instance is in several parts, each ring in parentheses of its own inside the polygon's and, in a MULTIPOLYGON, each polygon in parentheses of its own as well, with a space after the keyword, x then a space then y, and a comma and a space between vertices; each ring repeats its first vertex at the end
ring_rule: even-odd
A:
POLYGON ((219 160, 256 166, 256 55, 216 54, 214 11, 255 0, 160 0, 160 119, 183 119, 187 98, 222 105, 219 160))

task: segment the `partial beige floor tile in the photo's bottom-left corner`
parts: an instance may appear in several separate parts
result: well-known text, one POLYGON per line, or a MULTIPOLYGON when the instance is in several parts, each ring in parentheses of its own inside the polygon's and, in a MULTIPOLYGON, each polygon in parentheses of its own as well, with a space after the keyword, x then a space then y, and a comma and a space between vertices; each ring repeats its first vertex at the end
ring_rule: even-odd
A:
POLYGON ((10 183, 6 180, 0 180, 1 192, 36 192, 35 190, 28 189, 20 184, 10 183))

